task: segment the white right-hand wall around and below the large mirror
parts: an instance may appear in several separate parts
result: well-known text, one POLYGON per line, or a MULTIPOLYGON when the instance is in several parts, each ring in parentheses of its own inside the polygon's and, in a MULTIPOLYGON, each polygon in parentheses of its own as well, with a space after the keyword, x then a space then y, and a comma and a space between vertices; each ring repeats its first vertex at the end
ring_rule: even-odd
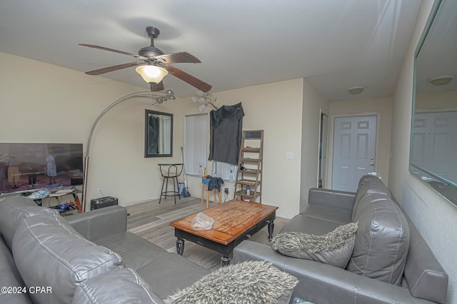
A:
POLYGON ((449 275, 448 303, 457 303, 457 208, 408 171, 414 51, 431 12, 423 0, 393 95, 391 162, 388 186, 403 205, 449 275))

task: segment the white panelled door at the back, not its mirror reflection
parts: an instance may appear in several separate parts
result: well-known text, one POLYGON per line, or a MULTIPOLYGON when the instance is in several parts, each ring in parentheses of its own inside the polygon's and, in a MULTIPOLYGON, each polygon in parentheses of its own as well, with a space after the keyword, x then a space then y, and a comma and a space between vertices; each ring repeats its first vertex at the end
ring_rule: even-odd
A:
POLYGON ((356 191, 376 168, 376 115, 337 117, 333 126, 332 188, 356 191))

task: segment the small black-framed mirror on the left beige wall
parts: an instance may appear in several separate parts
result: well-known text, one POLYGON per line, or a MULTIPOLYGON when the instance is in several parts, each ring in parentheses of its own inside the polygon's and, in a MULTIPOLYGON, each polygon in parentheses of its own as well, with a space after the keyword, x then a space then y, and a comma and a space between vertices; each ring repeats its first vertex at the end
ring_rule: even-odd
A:
POLYGON ((145 110, 144 157, 173 156, 173 114, 145 110))

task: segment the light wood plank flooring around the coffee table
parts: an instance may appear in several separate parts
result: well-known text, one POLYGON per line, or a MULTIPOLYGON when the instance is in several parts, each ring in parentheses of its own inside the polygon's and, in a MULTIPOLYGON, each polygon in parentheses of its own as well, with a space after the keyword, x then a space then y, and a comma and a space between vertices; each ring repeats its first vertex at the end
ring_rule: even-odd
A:
MULTIPOLYGON (((214 206, 214 203, 210 202, 211 206, 214 206)), ((169 223, 205 209, 206 201, 204 201, 204 205, 201 205, 200 198, 191 196, 177 200, 176 205, 173 198, 162 199, 160 204, 159 200, 139 203, 127 207, 127 211, 130 213, 127 218, 127 230, 169 252, 176 253, 174 228, 169 226, 169 223)), ((276 235, 287 222, 288 220, 285 218, 276 217, 273 235, 276 235)), ((264 227, 258 231, 251 237, 251 240, 268 244, 268 228, 264 227)), ((219 253, 189 241, 185 243, 183 256, 208 270, 214 270, 221 265, 219 253)))

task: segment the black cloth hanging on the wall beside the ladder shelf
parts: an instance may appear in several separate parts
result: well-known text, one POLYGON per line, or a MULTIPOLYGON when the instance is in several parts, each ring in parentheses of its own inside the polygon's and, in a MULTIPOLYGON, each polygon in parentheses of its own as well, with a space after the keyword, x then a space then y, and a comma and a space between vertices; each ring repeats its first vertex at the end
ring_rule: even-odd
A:
POLYGON ((238 166, 238 157, 243 137, 244 111, 241 103, 221 106, 209 113, 210 142, 209 160, 238 166))

